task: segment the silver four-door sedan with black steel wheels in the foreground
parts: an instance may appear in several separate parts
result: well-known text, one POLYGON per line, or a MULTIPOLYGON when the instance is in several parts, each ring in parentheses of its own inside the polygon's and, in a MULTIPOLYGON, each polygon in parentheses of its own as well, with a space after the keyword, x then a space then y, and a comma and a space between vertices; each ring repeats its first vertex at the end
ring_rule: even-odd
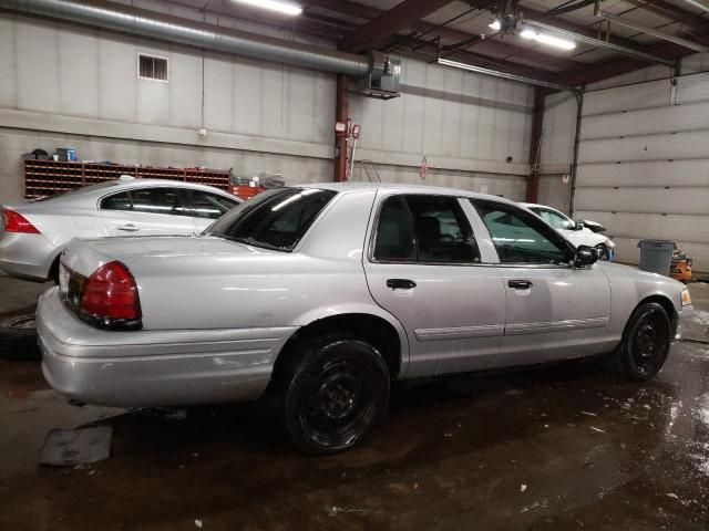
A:
POLYGON ((590 355, 651 378, 691 311, 684 284, 596 262, 512 201, 327 184, 266 191, 201 237, 70 247, 38 330, 75 400, 266 395, 328 454, 368 434, 393 381, 590 355))

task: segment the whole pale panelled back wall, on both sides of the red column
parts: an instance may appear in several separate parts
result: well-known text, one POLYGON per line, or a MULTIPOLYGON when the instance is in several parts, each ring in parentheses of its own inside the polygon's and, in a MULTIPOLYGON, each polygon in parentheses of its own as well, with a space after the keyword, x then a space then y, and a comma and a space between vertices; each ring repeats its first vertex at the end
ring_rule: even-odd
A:
MULTIPOLYGON (((158 0, 134 1, 333 46, 158 0)), ((374 160, 383 180, 421 183, 425 153, 424 184, 522 198, 531 90, 405 59, 403 72, 402 97, 352 97, 352 117, 362 126, 357 158, 374 160)), ((21 196, 20 155, 35 147, 74 147, 93 160, 281 173, 290 184, 331 180, 335 88, 335 76, 325 73, 219 54, 203 60, 181 45, 0 13, 0 201, 21 196), (142 52, 168 58, 169 83, 137 79, 142 52)))

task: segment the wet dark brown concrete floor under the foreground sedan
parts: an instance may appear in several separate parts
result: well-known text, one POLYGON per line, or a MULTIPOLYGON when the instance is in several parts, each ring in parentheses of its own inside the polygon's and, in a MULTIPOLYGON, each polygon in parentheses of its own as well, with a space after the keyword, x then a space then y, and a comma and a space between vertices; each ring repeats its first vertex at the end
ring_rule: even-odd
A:
MULTIPOLYGON (((39 289, 0 278, 0 312, 39 289)), ((572 363, 401 388, 364 447, 319 459, 253 406, 78 408, 0 361, 0 529, 706 530, 709 284, 691 292, 699 341, 651 383, 572 363), (50 429, 92 424, 111 459, 37 465, 50 429)))

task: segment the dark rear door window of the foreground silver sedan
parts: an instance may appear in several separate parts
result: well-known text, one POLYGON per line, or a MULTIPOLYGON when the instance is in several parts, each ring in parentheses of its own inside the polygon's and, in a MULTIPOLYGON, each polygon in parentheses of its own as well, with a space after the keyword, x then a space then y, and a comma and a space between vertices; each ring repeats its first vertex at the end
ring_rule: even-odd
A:
POLYGON ((409 195, 381 208, 374 260, 428 263, 480 262, 480 251, 458 198, 409 195))

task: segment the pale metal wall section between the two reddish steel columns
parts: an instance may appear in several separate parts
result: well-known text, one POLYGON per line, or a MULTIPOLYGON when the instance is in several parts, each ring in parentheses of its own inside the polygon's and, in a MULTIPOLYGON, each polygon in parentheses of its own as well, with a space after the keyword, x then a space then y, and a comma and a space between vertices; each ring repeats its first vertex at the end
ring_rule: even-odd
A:
POLYGON ((418 168, 425 155, 424 184, 524 197, 528 86, 407 59, 401 84, 395 100, 352 100, 352 119, 362 124, 356 158, 373 160, 383 179, 422 183, 418 168))

